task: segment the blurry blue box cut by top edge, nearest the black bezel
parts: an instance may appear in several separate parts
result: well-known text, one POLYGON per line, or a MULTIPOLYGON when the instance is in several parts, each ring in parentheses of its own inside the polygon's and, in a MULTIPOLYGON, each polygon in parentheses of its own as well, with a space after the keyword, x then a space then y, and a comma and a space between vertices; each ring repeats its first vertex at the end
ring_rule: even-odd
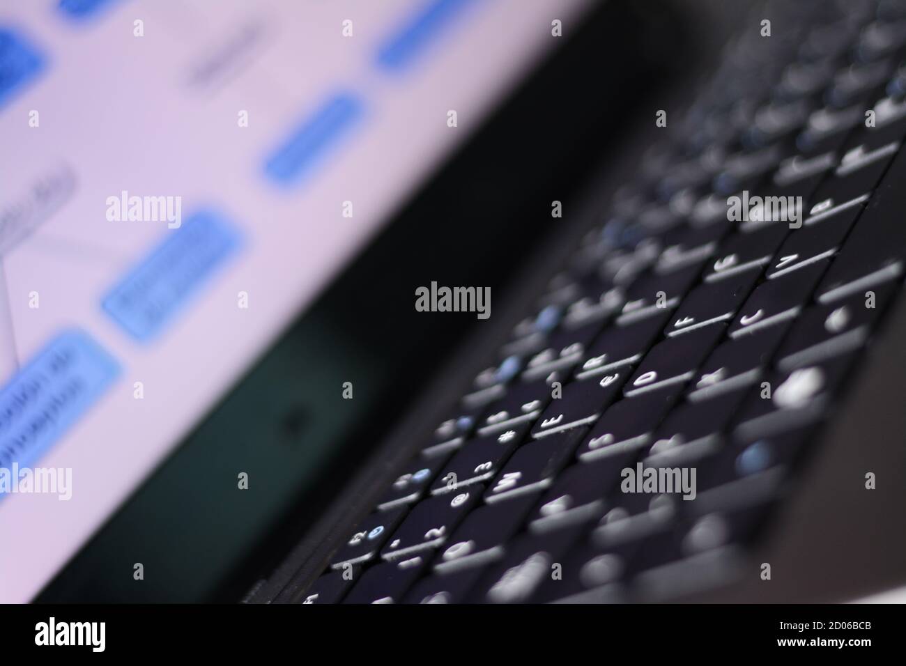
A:
POLYGON ((398 71, 414 63, 460 12, 477 0, 427 0, 378 48, 382 69, 398 71))

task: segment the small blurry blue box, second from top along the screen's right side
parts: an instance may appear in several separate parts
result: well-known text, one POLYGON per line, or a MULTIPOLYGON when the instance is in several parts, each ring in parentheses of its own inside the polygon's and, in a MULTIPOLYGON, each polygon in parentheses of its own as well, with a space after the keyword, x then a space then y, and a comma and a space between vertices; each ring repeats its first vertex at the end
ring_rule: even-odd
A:
POLYGON ((363 110, 361 100, 350 92, 326 101, 266 159, 267 177, 280 185, 301 179, 361 120, 363 110))

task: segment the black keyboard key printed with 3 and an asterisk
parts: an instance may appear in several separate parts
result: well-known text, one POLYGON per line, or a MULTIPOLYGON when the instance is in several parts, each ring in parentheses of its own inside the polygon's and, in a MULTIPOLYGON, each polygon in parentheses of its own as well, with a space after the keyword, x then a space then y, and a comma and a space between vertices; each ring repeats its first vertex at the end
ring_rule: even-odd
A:
POLYGON ((528 424, 513 430, 472 439, 441 468, 431 486, 432 495, 456 492, 462 487, 493 478, 525 439, 528 424))

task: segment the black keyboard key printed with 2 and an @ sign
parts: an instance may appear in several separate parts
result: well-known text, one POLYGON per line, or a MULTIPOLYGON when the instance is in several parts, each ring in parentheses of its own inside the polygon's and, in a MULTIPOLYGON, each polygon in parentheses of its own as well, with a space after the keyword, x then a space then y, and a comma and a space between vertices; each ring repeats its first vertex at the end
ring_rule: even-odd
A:
POLYGON ((381 556, 392 560, 439 547, 475 506, 483 492, 484 487, 478 485, 451 495, 422 500, 390 537, 381 556))

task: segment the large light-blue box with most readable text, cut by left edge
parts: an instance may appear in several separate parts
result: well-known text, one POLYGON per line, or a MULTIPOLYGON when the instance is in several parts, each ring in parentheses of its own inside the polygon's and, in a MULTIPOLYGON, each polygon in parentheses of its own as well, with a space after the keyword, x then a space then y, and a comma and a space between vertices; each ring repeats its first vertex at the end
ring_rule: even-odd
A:
POLYGON ((30 465, 63 437, 120 374, 88 333, 67 330, 0 390, 0 468, 30 465))

